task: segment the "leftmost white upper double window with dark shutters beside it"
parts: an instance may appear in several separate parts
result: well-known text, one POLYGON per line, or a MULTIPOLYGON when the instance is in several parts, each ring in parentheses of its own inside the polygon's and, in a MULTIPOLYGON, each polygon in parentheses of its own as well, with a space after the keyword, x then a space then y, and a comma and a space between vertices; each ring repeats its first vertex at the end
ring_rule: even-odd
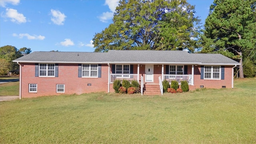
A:
POLYGON ((39 76, 52 76, 55 74, 55 64, 40 64, 39 76))

